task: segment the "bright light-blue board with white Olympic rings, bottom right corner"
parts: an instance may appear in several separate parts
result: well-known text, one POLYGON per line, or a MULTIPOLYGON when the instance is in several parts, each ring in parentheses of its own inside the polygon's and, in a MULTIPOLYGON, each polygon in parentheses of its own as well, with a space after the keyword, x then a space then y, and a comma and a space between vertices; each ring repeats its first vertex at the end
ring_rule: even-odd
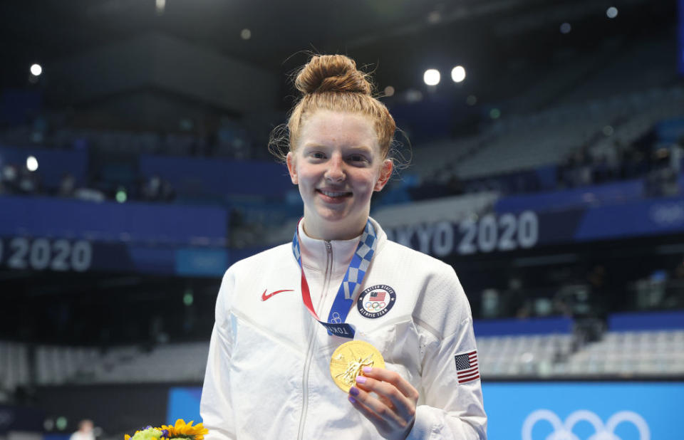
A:
POLYGON ((482 384, 489 440, 684 439, 684 383, 482 384))

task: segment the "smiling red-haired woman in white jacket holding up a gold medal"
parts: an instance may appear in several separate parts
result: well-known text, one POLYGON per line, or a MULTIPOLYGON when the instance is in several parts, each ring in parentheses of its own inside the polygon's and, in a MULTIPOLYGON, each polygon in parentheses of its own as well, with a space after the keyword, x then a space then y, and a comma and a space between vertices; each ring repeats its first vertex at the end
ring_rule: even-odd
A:
POLYGON ((304 218, 292 243, 225 273, 202 391, 207 440, 484 439, 456 274, 368 216, 392 174, 393 118, 346 56, 314 56, 296 88, 286 164, 304 218), (348 357, 363 352, 354 362, 348 341, 348 357))

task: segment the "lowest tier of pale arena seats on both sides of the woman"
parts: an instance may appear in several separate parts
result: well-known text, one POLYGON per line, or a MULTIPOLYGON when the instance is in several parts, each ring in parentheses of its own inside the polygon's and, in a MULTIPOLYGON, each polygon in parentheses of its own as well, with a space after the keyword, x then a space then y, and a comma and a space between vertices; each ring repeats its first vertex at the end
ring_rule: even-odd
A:
MULTIPOLYGON (((475 335, 483 380, 641 379, 684 375, 684 313, 618 313, 598 340, 586 342, 570 318, 476 320, 475 335)), ((207 342, 157 345, 151 349, 113 347, 105 353, 86 347, 35 347, 28 367, 27 345, 1 342, 6 365, 0 370, 10 392, 28 384, 201 383, 207 342), (174 362, 169 362, 174 360, 174 362), (159 369, 164 365, 163 369, 159 369)))

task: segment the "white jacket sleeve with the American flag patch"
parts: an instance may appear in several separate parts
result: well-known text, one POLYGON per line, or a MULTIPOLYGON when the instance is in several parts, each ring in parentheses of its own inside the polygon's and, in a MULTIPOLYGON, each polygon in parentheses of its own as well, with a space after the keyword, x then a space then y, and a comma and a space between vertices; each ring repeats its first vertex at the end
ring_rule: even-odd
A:
POLYGON ((451 292, 449 301, 442 303, 444 318, 440 318, 444 320, 441 329, 450 334, 437 337, 436 328, 429 332, 432 343, 425 352, 422 374, 424 404, 416 409, 408 439, 487 439, 487 415, 470 305, 457 278, 455 284, 450 284, 455 292, 451 292), (458 355, 465 357, 459 357, 457 366, 458 355), (465 359, 470 360, 470 367, 463 365, 465 359), (460 377, 457 368, 461 369, 460 377))

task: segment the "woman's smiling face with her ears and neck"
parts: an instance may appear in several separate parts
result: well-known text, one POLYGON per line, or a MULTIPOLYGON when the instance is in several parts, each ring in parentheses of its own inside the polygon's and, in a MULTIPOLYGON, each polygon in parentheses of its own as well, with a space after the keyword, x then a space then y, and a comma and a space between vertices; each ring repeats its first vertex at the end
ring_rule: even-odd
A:
POLYGON ((372 121, 331 110, 317 110, 304 122, 287 167, 304 200, 306 234, 326 240, 361 234, 373 191, 383 189, 392 174, 372 121))

